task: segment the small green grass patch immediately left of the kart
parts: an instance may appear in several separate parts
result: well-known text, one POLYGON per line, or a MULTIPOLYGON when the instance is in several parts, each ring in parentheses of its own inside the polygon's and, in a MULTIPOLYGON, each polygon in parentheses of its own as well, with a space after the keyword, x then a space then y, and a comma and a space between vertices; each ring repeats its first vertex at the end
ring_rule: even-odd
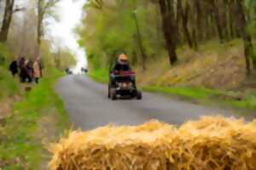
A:
POLYGON ((108 82, 108 71, 106 69, 92 70, 88 73, 88 75, 96 82, 108 82))

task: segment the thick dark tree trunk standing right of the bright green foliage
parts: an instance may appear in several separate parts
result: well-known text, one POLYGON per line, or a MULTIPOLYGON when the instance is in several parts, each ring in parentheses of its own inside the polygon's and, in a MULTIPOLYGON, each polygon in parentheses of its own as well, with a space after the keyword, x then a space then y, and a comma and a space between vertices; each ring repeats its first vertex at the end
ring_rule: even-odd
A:
POLYGON ((173 16, 172 0, 159 0, 160 12, 162 17, 162 28, 166 39, 166 48, 169 54, 170 64, 173 65, 177 61, 176 54, 176 37, 177 29, 173 16))

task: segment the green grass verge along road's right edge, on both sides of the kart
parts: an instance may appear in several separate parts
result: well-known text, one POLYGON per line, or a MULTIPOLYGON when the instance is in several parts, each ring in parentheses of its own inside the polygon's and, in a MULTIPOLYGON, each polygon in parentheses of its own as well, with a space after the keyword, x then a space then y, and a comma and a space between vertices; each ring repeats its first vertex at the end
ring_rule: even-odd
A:
MULTIPOLYGON (((89 76, 96 82, 108 82, 108 71, 99 69, 91 71, 89 76)), ((160 94, 171 94, 185 100, 192 100, 202 105, 219 105, 242 110, 256 111, 256 94, 251 92, 224 91, 210 88, 143 86, 143 91, 160 94)))

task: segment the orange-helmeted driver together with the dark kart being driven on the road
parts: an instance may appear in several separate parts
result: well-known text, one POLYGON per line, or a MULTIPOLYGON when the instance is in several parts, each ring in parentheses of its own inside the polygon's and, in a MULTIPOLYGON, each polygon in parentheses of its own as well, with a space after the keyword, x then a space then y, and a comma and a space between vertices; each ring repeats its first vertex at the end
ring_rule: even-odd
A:
POLYGON ((135 73, 131 71, 128 57, 125 54, 119 55, 109 76, 108 98, 116 99, 117 95, 142 98, 142 94, 137 91, 135 73))

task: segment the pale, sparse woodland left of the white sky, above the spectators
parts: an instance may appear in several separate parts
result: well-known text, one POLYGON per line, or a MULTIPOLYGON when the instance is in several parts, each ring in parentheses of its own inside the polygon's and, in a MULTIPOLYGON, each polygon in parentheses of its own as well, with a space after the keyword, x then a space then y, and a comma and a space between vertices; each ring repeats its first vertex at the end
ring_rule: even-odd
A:
POLYGON ((11 56, 2 58, 7 61, 18 56, 27 59, 40 57, 47 67, 61 70, 74 65, 75 60, 70 49, 58 44, 49 35, 51 20, 57 20, 55 5, 59 0, 1 0, 0 1, 0 42, 11 50, 11 56), (53 47, 54 46, 54 47, 53 47), (68 63, 68 65, 67 65, 68 63))

